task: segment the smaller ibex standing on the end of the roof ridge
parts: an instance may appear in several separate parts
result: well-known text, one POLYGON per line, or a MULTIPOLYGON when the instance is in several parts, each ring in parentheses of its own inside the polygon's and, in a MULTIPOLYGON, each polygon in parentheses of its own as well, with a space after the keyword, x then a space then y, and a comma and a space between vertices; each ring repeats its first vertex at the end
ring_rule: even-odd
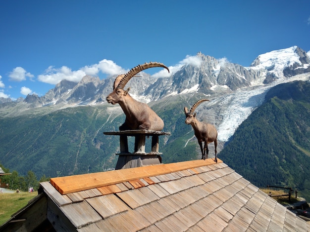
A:
POLYGON ((199 120, 197 120, 196 118, 196 113, 194 114, 194 111, 196 110, 196 108, 198 107, 199 104, 201 104, 202 102, 205 101, 209 101, 207 99, 201 99, 199 101, 197 101, 191 108, 190 111, 188 111, 188 109, 186 107, 184 107, 184 112, 185 112, 185 123, 186 124, 191 124, 194 131, 195 131, 195 136, 198 140, 200 149, 201 149, 201 153, 202 153, 202 159, 206 159, 206 157, 208 157, 208 147, 207 144, 208 143, 212 143, 214 142, 214 148, 215 148, 215 158, 214 161, 217 162, 217 155, 216 155, 216 147, 217 147, 217 130, 216 128, 206 122, 200 122, 199 120), (205 142, 205 146, 203 149, 203 142, 205 142))

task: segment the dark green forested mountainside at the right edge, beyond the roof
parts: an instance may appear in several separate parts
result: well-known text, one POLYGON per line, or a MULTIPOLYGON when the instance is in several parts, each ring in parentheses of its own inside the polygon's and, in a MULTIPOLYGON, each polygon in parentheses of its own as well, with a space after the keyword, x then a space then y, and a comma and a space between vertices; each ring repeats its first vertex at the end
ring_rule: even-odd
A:
POLYGON ((258 187, 298 189, 310 200, 310 83, 278 85, 219 157, 258 187))

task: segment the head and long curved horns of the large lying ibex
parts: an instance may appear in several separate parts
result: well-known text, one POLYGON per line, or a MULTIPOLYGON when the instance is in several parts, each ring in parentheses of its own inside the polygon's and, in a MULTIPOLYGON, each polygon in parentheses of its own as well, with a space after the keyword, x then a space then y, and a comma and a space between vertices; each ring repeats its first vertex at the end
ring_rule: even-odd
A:
POLYGON ((142 70, 154 67, 162 67, 168 70, 169 72, 168 67, 166 67, 164 64, 157 62, 150 62, 150 63, 144 63, 143 65, 138 65, 135 68, 131 69, 127 74, 122 74, 115 78, 113 84, 113 92, 111 92, 106 97, 107 102, 113 105, 119 103, 122 97, 126 96, 128 91, 130 90, 130 87, 127 90, 124 90, 124 87, 127 84, 127 82, 136 74, 140 73, 142 70))

